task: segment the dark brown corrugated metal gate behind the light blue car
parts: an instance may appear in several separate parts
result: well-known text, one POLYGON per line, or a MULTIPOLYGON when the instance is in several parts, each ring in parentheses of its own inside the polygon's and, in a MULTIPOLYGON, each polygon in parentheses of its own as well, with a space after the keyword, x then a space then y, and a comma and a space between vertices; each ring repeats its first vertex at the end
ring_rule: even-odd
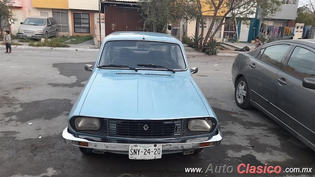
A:
POLYGON ((139 31, 143 21, 139 8, 105 6, 105 34, 114 31, 139 31))

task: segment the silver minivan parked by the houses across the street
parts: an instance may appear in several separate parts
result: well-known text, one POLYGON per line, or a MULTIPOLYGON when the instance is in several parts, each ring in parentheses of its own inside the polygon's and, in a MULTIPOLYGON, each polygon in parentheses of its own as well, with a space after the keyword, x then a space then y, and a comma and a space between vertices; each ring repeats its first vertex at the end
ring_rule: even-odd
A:
POLYGON ((33 16, 21 22, 20 38, 48 38, 58 36, 58 24, 53 17, 33 16))

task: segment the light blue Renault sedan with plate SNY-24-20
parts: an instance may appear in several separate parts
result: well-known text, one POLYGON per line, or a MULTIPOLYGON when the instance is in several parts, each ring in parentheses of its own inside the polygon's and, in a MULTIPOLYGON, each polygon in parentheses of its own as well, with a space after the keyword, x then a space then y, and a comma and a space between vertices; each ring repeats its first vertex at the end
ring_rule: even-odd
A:
POLYGON ((193 81, 183 44, 162 33, 114 32, 63 130, 67 144, 89 153, 158 159, 220 145, 218 118, 193 81))

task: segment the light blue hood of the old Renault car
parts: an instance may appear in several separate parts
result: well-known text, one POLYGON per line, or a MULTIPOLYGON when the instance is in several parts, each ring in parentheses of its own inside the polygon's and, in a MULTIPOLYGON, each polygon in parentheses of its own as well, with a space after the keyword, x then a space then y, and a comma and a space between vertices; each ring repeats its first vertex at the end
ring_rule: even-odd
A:
POLYGON ((96 75, 80 116, 121 119, 209 117, 189 76, 105 75, 96 75))

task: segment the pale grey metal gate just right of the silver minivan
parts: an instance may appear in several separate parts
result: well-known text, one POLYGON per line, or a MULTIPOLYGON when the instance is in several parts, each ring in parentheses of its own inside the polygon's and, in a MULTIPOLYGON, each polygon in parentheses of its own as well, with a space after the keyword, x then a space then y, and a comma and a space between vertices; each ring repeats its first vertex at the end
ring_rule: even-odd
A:
POLYGON ((56 19, 56 22, 58 24, 58 35, 68 36, 69 35, 68 11, 53 9, 53 17, 56 19))

